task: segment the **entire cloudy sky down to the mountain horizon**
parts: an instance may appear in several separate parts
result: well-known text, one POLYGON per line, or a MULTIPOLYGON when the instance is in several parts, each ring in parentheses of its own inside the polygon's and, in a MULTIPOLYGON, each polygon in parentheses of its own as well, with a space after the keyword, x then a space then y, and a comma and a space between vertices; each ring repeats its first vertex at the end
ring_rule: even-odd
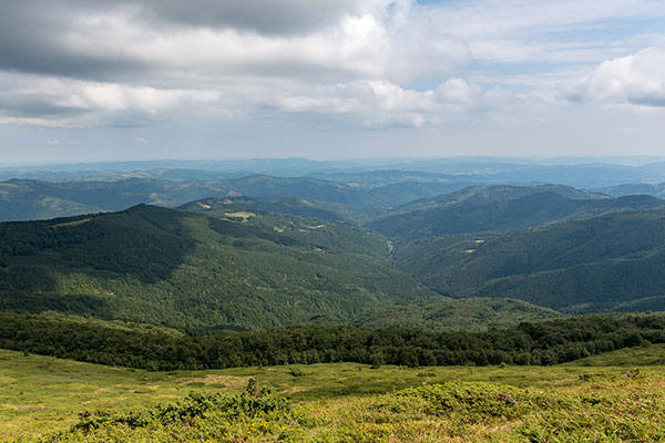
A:
POLYGON ((0 2, 0 164, 663 141, 662 0, 0 2))

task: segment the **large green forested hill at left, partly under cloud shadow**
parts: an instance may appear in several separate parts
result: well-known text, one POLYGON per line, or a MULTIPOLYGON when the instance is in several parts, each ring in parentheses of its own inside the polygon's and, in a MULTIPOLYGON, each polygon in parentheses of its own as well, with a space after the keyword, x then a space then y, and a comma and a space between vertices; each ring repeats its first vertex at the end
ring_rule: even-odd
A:
POLYGON ((391 268, 385 239, 365 229, 277 214, 232 218, 142 205, 1 224, 0 307, 264 328, 348 321, 370 306, 438 297, 391 268))

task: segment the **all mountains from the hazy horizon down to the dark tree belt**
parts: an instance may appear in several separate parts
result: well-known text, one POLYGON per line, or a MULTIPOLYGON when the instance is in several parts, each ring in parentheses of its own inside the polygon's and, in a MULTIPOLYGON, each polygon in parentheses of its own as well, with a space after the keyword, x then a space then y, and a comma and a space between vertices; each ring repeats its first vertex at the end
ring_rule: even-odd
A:
POLYGON ((662 177, 657 164, 121 164, 11 178, 1 219, 41 222, 0 224, 0 306, 187 330, 441 330, 665 309, 665 200, 630 192, 658 185, 525 183, 550 167, 590 185, 662 177), (505 174, 512 184, 493 184, 505 174))

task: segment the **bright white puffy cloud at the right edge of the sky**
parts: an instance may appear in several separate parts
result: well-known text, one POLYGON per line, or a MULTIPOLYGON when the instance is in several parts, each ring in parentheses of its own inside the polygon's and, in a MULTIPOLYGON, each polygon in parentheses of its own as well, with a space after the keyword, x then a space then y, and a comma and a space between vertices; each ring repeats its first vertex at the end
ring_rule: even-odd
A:
POLYGON ((604 61, 564 86, 563 94, 572 102, 665 106, 665 50, 648 48, 604 61))

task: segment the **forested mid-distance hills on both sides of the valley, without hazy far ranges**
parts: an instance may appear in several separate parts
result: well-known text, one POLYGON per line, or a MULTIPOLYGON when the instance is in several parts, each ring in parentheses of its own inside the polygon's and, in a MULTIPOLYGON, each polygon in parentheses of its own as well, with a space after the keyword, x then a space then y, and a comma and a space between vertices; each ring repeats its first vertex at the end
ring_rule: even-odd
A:
MULTIPOLYGON (((0 309, 188 330, 307 322, 442 330, 560 312, 665 309, 665 274, 659 271, 665 212, 638 209, 661 200, 615 199, 567 187, 548 189, 574 198, 536 188, 510 194, 513 188, 459 192, 456 198, 477 203, 452 206, 467 208, 466 217, 477 214, 478 205, 485 210, 524 198, 543 206, 554 198, 614 209, 627 202, 635 208, 595 217, 587 210, 584 219, 505 233, 417 240, 389 240, 295 197, 207 198, 180 210, 140 205, 120 213, 3 223, 0 309), (469 297, 475 300, 462 301, 469 297)), ((525 219, 523 212, 487 214, 488 220, 511 223, 511 214, 525 219)))

